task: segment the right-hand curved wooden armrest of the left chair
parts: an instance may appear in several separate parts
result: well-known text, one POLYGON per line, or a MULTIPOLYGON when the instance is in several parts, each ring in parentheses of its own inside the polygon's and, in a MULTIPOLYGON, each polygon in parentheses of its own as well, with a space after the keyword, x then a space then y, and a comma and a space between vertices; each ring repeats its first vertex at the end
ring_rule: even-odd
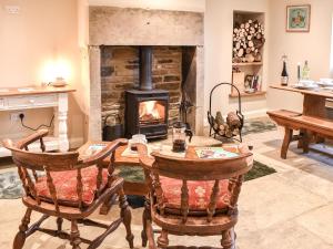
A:
POLYGON ((112 141, 108 143, 108 145, 97 154, 84 158, 82 160, 82 164, 84 164, 85 166, 90 166, 102 163, 102 160, 110 156, 119 146, 125 145, 127 143, 128 141, 124 138, 112 141))

